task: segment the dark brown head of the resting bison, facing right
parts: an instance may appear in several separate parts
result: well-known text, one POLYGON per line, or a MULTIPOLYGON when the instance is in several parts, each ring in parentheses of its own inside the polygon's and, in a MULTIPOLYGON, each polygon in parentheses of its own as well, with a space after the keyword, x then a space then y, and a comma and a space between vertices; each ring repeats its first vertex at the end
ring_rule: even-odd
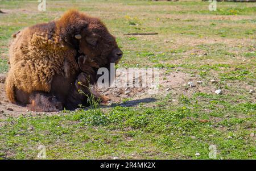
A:
POLYGON ((56 23, 60 37, 72 48, 77 49, 98 66, 117 64, 123 52, 118 48, 115 37, 98 18, 92 18, 76 10, 66 12, 56 23))

